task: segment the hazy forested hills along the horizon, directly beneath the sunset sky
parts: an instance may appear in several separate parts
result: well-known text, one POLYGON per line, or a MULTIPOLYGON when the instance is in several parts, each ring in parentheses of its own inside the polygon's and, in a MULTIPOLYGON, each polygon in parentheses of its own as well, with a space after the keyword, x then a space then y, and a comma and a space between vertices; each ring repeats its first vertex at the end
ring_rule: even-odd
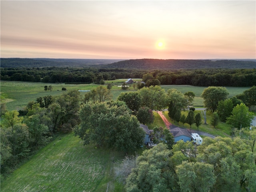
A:
POLYGON ((95 67, 124 69, 256 68, 256 60, 1 58, 1 67, 95 67))

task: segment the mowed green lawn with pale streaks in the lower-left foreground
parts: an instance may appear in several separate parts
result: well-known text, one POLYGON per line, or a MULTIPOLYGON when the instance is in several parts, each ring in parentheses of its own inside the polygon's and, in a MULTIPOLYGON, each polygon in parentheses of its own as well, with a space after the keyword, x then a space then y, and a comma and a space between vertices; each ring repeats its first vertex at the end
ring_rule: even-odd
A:
POLYGON ((119 192, 113 159, 124 156, 94 145, 83 146, 74 135, 58 136, 1 183, 1 192, 119 192))

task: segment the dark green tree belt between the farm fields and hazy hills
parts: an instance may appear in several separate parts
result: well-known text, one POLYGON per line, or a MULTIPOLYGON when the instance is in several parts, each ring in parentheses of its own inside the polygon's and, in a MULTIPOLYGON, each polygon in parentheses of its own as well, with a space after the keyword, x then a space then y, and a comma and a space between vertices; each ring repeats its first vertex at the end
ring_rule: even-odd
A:
MULTIPOLYGON (((1 80, 96 83, 121 78, 143 78, 164 84, 193 86, 254 86, 256 69, 135 70, 118 68, 1 68, 1 80)), ((144 82, 146 83, 144 79, 144 82)), ((157 82, 154 82, 157 84, 157 82)))

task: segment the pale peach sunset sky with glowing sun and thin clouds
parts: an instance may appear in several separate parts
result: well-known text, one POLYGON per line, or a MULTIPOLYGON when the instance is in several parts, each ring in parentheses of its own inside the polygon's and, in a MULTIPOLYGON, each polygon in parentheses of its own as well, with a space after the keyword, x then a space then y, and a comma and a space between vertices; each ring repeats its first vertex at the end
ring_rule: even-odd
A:
POLYGON ((1 58, 256 59, 256 1, 0 1, 1 58))

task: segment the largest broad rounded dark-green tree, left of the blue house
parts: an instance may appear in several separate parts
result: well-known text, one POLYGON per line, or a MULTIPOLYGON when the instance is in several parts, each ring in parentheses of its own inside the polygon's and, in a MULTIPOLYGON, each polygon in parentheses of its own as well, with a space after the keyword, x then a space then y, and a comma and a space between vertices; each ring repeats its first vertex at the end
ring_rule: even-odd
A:
POLYGON ((124 102, 121 105, 87 103, 80 108, 79 116, 81 123, 74 128, 74 134, 84 144, 134 152, 144 142, 145 132, 124 102))

